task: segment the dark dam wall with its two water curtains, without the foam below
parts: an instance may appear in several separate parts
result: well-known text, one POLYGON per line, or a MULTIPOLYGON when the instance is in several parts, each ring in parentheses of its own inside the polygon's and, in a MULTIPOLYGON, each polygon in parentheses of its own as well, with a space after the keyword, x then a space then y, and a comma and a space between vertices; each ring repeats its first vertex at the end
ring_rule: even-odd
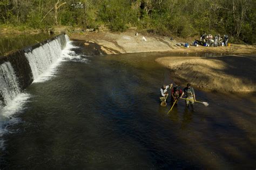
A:
POLYGON ((59 35, 0 57, 0 108, 38 79, 62 55, 69 38, 59 35))

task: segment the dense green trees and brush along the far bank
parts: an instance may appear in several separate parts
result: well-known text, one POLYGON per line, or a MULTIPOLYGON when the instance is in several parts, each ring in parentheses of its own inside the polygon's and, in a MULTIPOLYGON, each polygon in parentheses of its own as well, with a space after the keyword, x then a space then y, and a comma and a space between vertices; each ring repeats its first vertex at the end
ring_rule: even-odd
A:
POLYGON ((229 35, 255 43, 255 0, 1 0, 0 24, 47 29, 53 25, 112 31, 131 26, 159 35, 229 35))

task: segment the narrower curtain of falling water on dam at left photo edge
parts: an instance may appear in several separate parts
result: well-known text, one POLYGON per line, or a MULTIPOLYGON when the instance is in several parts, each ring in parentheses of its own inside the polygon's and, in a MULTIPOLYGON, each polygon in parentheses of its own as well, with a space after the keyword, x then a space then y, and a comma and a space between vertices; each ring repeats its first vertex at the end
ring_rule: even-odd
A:
POLYGON ((10 62, 5 62, 0 65, 0 92, 2 96, 0 108, 4 105, 8 105, 8 103, 21 92, 14 68, 11 66, 10 62))

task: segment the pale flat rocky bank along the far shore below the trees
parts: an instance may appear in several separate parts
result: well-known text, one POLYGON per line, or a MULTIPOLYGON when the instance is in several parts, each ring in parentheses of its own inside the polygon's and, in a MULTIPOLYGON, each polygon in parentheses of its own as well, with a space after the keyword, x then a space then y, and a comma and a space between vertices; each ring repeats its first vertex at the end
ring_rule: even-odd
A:
MULTIPOLYGON (((136 52, 208 52, 208 53, 226 53, 226 54, 251 54, 256 53, 256 45, 232 44, 230 47, 205 47, 190 46, 189 48, 177 46, 177 43, 192 43, 193 38, 181 39, 156 36, 148 33, 138 33, 136 29, 126 32, 85 32, 72 33, 71 39, 84 40, 87 43, 96 43, 100 45, 102 51, 107 55, 117 53, 136 53, 136 52), (145 39, 143 38, 145 37, 145 39), (144 39, 144 40, 143 40, 144 39)), ((86 44, 85 44, 86 45, 86 44)))

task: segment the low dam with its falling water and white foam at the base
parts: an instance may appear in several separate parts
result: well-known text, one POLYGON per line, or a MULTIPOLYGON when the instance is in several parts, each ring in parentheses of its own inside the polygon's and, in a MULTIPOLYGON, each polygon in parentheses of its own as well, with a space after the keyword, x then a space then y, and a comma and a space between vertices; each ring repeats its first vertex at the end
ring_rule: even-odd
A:
POLYGON ((20 121, 14 113, 21 113, 30 98, 23 92, 25 87, 32 80, 40 81, 45 73, 49 77, 63 58, 69 57, 72 47, 68 36, 59 35, 0 57, 0 149, 4 149, 2 137, 9 132, 8 126, 20 121))

